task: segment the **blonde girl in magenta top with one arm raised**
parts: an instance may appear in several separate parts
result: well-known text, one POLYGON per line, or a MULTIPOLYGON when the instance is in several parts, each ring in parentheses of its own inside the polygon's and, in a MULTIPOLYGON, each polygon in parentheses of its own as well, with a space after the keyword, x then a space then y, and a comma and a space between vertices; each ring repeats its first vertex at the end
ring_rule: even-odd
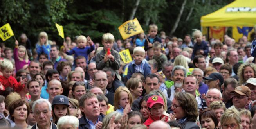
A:
POLYGON ((27 55, 26 47, 20 45, 19 42, 15 41, 15 48, 13 51, 14 54, 14 61, 15 61, 15 68, 16 71, 22 69, 23 67, 27 67, 30 63, 29 56, 27 55))

